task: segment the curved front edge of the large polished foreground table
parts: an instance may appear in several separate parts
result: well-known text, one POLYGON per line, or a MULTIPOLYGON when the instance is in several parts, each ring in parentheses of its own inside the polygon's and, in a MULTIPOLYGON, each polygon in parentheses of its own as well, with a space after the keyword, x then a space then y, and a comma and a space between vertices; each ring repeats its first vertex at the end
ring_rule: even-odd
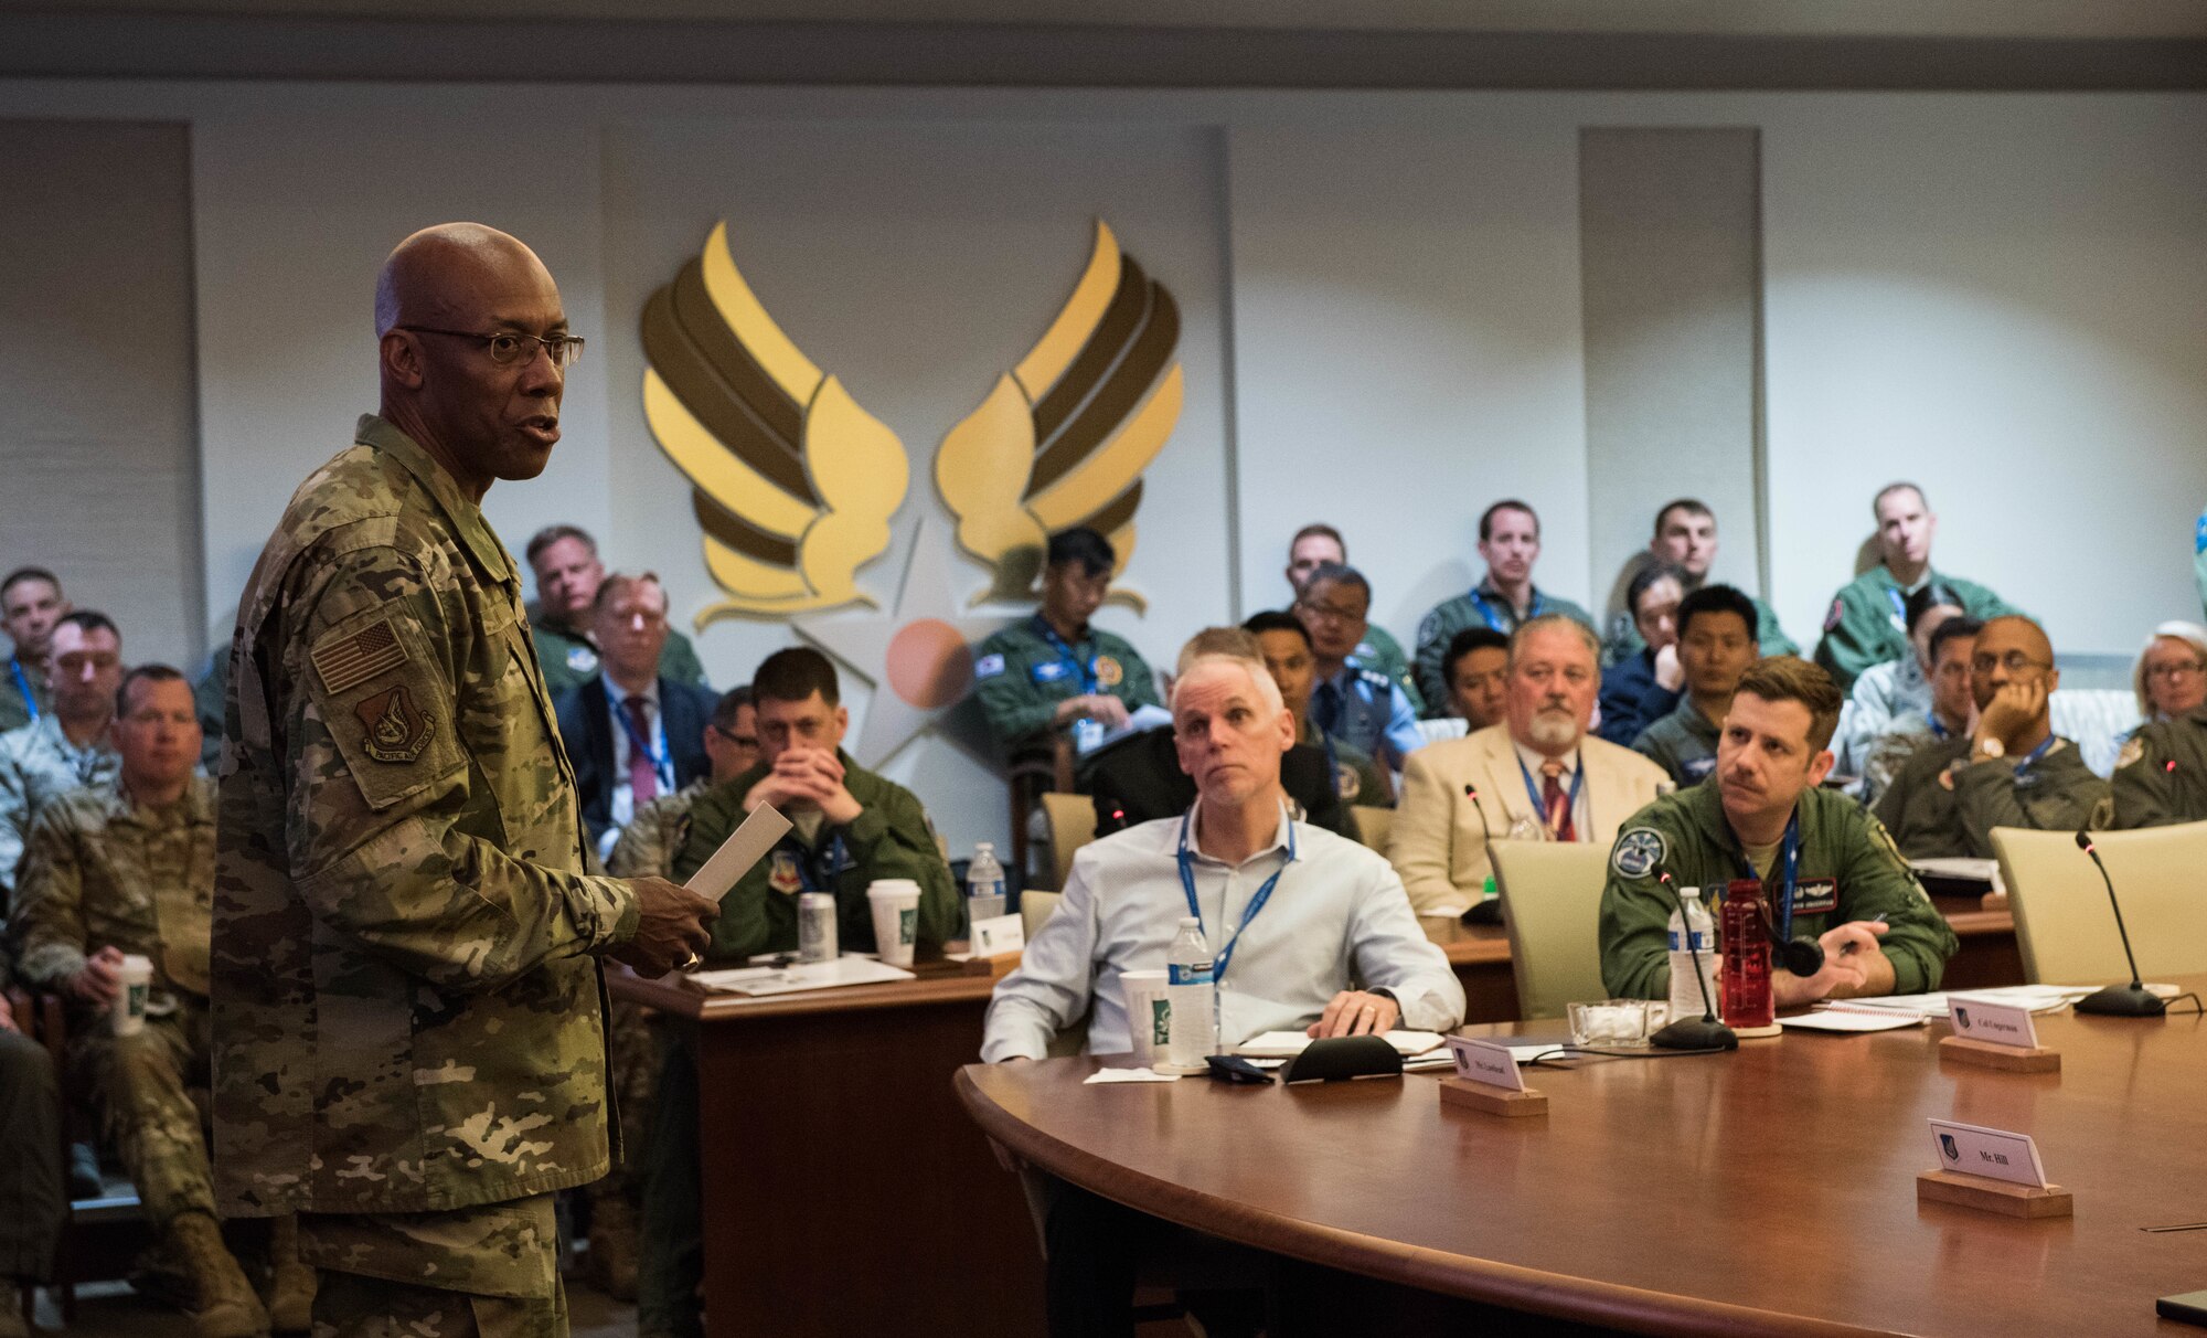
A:
POLYGON ((960 1069, 951 1080, 958 1102, 980 1130, 1004 1148, 1115 1203, 1240 1245, 1287 1254, 1324 1267, 1340 1267, 1419 1292, 1459 1296, 1549 1318, 1631 1329, 1635 1334, 1680 1338, 1710 1334, 1726 1338, 1896 1338, 1894 1329, 1863 1329, 1810 1316, 1702 1300, 1671 1292, 1649 1292, 1620 1283, 1598 1283, 1468 1254, 1448 1254, 1265 1212, 1247 1203, 1214 1199, 1212 1194, 1128 1170, 1042 1133, 995 1104, 967 1069, 971 1064, 960 1069))

